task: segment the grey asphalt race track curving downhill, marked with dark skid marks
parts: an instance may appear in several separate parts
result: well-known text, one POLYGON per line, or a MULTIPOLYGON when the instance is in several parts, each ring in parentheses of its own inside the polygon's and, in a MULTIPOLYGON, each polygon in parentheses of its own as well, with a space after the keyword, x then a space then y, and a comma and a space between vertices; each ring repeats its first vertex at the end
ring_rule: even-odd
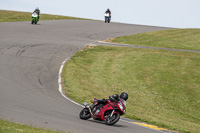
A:
POLYGON ((58 73, 64 59, 87 44, 163 29, 90 20, 0 23, 0 118, 75 133, 160 132, 123 121, 80 120, 82 107, 58 91, 58 73))

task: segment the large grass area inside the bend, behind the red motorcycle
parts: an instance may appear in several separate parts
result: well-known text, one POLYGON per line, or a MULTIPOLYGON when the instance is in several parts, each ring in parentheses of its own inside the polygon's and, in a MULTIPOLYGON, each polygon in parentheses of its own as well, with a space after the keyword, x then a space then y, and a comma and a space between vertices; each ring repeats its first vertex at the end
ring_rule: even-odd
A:
POLYGON ((66 95, 79 103, 126 91, 125 117, 198 133, 199 60, 199 53, 87 47, 65 65, 63 86, 66 95))

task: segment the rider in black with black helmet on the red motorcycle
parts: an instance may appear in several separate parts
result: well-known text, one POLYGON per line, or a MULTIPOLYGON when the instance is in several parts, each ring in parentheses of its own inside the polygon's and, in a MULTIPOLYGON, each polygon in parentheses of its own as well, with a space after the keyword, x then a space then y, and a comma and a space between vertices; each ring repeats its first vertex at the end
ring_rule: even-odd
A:
POLYGON ((104 98, 101 100, 95 99, 97 100, 97 102, 91 105, 90 108, 91 110, 93 110, 96 107, 96 109, 93 111, 95 112, 97 109, 100 109, 101 107, 103 107, 107 103, 108 100, 118 103, 120 99, 123 99, 126 101, 128 99, 128 94, 126 92, 122 92, 120 96, 118 94, 109 96, 109 99, 104 99, 104 98))

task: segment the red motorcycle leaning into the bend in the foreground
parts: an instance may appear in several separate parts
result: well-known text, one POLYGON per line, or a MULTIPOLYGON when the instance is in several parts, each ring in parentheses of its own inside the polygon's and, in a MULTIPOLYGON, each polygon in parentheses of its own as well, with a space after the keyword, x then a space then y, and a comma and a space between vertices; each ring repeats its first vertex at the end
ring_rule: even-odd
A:
MULTIPOLYGON (((93 104, 97 102, 97 99, 93 99, 93 104)), ((86 102, 83 103, 85 106, 81 110, 79 116, 83 120, 93 118, 94 120, 105 121, 106 125, 113 125, 117 123, 120 116, 126 113, 126 101, 120 99, 118 102, 108 100, 104 106, 97 106, 91 110, 90 105, 86 102)))

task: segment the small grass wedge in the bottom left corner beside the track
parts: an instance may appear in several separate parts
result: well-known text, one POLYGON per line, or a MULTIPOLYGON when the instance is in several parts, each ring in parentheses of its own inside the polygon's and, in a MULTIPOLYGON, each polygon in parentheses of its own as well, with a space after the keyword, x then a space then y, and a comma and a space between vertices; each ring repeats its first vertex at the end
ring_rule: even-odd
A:
POLYGON ((34 128, 0 119, 0 133, 61 133, 42 128, 34 128))

